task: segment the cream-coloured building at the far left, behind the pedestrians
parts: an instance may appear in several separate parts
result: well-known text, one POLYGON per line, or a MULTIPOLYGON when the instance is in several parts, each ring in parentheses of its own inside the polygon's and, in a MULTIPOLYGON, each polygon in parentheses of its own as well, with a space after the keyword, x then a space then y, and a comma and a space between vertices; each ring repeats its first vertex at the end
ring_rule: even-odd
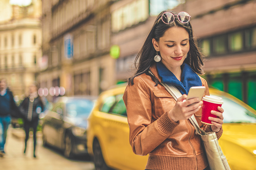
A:
POLYGON ((41 1, 29 6, 1 1, 0 78, 7 79, 14 95, 21 96, 36 80, 41 52, 41 1))

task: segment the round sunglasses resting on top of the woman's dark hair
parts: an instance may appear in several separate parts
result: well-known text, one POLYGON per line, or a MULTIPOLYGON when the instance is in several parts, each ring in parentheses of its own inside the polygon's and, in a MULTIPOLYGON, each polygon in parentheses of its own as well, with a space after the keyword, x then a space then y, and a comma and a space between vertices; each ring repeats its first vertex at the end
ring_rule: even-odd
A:
MULTIPOLYGON (((160 19, 162 19, 162 21, 165 24, 170 24, 170 23, 174 22, 174 20, 175 20, 174 16, 177 16, 178 20, 182 23, 188 23, 190 21, 190 17, 191 17, 191 16, 189 16, 189 14, 187 12, 180 12, 180 13, 178 13, 178 15, 177 14, 173 15, 171 12, 165 12, 165 13, 163 13, 163 15, 160 19)), ((160 21, 160 19, 159 19, 159 21, 160 21)))

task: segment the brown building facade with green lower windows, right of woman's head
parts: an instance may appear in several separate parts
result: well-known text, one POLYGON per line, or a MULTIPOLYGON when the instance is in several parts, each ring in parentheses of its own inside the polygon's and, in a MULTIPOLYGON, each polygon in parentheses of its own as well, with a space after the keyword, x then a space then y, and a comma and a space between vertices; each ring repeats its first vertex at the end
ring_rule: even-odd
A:
POLYGON ((175 11, 191 15, 206 54, 209 86, 226 91, 256 109, 256 1, 187 0, 175 11))

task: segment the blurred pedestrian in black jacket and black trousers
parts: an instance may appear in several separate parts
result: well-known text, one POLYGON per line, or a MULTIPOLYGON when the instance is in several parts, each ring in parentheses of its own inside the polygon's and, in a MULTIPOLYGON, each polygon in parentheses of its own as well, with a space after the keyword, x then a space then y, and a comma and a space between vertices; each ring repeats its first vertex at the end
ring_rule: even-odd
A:
POLYGON ((29 139, 29 129, 33 128, 34 139, 34 158, 36 158, 36 131, 39 121, 39 114, 44 110, 44 104, 38 95, 38 84, 36 82, 29 86, 29 95, 20 104, 20 108, 24 114, 24 129, 26 133, 24 154, 27 149, 27 141, 29 139))

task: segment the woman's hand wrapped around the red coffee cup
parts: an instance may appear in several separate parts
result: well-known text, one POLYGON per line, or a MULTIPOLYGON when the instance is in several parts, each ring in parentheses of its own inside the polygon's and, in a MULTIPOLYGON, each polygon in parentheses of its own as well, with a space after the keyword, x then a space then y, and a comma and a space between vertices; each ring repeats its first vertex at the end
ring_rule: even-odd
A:
POLYGON ((223 124, 223 115, 222 113, 224 112, 224 109, 222 109, 222 107, 218 106, 218 110, 220 112, 211 111, 211 114, 215 114, 216 116, 218 116, 218 118, 213 118, 213 117, 209 117, 208 119, 212 121, 211 128, 213 132, 218 132, 220 130, 220 128, 222 127, 223 124))

